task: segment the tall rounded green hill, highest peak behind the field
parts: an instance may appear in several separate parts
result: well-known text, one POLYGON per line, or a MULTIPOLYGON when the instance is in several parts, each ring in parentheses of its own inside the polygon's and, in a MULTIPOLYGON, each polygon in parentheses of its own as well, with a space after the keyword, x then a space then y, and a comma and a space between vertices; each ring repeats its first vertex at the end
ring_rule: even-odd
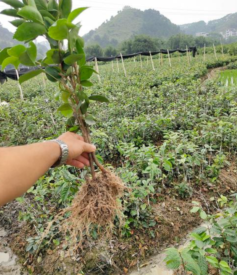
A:
POLYGON ((129 6, 112 16, 99 28, 84 35, 87 45, 117 46, 120 42, 138 34, 168 38, 180 33, 180 27, 154 9, 141 11, 129 6))

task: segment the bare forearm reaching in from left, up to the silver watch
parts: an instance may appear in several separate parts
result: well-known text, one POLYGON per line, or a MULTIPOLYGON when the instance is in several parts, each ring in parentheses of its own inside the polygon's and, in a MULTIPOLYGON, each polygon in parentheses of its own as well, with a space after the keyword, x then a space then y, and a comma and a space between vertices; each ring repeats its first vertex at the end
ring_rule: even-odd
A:
POLYGON ((60 154, 55 142, 0 148, 0 207, 26 192, 60 154))

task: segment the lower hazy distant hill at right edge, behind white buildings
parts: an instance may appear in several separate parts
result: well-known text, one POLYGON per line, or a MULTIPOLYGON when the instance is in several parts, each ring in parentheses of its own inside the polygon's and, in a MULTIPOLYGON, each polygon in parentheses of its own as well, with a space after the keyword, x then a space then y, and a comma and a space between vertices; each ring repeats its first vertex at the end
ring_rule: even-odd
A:
POLYGON ((208 23, 204 21, 180 25, 180 29, 185 34, 195 35, 197 32, 223 32, 226 29, 237 28, 237 12, 228 14, 220 19, 211 20, 208 23))

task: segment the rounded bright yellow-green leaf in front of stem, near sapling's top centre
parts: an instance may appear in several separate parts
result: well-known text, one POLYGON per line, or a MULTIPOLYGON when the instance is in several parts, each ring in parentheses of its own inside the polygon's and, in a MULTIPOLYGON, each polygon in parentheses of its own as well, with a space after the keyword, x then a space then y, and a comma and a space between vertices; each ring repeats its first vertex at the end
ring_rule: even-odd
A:
POLYGON ((50 28, 49 36, 55 40, 68 39, 68 26, 66 19, 58 19, 50 28))

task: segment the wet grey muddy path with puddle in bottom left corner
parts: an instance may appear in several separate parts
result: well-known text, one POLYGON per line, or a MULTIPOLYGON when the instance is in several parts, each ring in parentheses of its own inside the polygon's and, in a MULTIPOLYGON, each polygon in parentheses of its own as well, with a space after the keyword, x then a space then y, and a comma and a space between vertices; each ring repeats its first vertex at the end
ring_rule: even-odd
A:
POLYGON ((7 233, 0 227, 0 275, 26 275, 17 264, 17 256, 7 245, 7 233))

